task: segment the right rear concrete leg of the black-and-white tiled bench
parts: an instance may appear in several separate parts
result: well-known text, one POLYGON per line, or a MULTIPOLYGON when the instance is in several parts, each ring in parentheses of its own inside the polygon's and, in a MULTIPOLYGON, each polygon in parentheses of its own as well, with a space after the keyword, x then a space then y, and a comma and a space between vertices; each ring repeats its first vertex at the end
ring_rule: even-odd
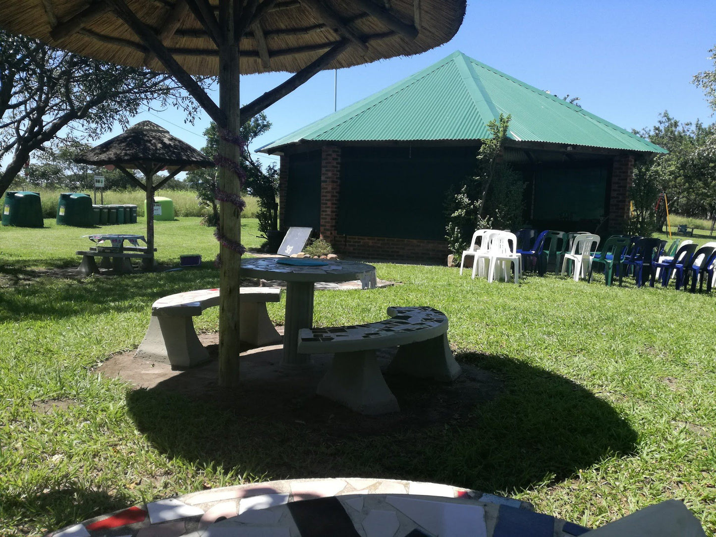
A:
POLYGON ((407 374, 440 382, 450 382, 460 372, 462 369, 455 362, 445 334, 424 342, 401 345, 387 369, 389 374, 407 374))

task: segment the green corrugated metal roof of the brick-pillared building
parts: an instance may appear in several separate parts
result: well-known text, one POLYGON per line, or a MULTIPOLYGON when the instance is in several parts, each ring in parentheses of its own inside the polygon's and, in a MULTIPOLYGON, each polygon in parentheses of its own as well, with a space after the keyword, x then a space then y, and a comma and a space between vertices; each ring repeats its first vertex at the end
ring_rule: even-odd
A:
POLYGON ((259 149, 326 142, 480 140, 490 120, 511 114, 509 137, 667 153, 658 145, 508 74, 453 52, 354 105, 259 149))

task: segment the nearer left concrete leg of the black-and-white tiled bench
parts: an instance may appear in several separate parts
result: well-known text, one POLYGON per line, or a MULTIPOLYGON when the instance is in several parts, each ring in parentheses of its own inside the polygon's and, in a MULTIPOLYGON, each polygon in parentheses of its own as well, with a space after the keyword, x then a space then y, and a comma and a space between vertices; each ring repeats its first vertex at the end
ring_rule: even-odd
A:
POLYGON ((395 395, 385 384, 374 350, 337 352, 316 393, 361 414, 400 412, 395 395))

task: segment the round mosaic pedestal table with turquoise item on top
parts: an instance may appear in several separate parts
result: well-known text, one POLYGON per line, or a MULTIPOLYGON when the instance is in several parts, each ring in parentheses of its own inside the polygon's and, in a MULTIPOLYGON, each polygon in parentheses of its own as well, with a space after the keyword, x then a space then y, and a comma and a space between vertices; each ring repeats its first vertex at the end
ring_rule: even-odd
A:
MULTIPOLYGON (((316 281, 369 280, 375 267, 356 261, 326 261, 319 266, 286 265, 279 261, 296 258, 263 257, 241 260, 241 277, 286 282, 286 321, 284 326, 284 358, 281 367, 306 367, 310 354, 299 354, 299 330, 313 326, 314 283, 316 281)), ((321 260, 322 261, 322 260, 321 260)))

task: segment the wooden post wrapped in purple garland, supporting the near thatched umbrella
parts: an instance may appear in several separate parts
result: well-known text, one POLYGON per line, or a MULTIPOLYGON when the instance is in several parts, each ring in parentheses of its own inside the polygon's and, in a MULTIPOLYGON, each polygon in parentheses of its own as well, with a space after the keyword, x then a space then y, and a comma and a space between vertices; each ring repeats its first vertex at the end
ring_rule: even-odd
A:
MULTIPOLYGON (((238 136, 241 130, 241 103, 239 101, 239 49, 241 39, 240 29, 236 28, 241 2, 237 0, 223 0, 220 4, 220 23, 223 30, 223 40, 219 47, 219 108, 226 115, 228 132, 238 136)), ((231 140, 219 138, 219 154, 223 158, 241 162, 241 147, 231 140)), ((224 192, 240 196, 241 181, 234 173, 226 168, 219 168, 219 188, 224 192)), ((236 205, 221 201, 219 218, 219 232, 228 238, 232 244, 241 243, 241 212, 236 205)), ((221 304, 219 304, 219 378, 221 386, 236 387, 238 385, 238 356, 239 347, 239 294, 241 286, 240 268, 241 254, 228 248, 225 244, 219 247, 221 268, 219 269, 219 289, 221 289, 221 304)))

